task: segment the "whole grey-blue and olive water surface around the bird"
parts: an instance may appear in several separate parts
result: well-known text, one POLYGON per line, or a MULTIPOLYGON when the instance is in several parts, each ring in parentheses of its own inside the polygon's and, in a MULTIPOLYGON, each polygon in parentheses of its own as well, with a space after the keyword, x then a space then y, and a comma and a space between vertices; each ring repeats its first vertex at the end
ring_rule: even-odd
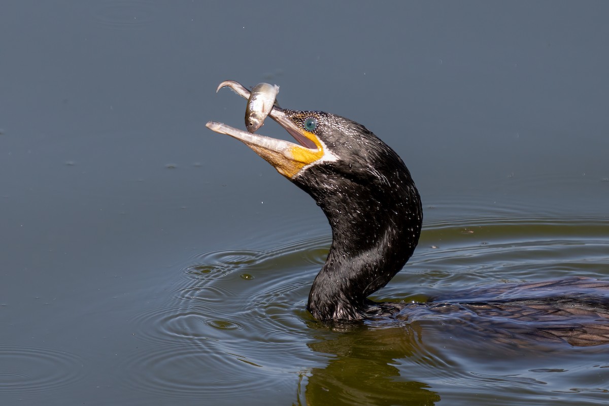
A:
POLYGON ((0 404, 607 403, 606 346, 317 323, 322 212, 204 127, 273 82, 402 156, 423 234, 375 299, 608 280, 604 2, 3 6, 0 404))

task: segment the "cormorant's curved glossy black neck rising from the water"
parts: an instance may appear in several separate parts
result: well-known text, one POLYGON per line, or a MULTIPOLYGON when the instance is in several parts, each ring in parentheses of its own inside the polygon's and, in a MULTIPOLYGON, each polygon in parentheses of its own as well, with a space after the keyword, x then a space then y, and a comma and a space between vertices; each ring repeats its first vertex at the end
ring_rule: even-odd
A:
POLYGON ((333 236, 309 294, 308 309, 319 320, 361 319, 367 296, 401 270, 417 245, 421 200, 406 167, 373 183, 341 182, 320 194, 308 191, 328 217, 333 236))

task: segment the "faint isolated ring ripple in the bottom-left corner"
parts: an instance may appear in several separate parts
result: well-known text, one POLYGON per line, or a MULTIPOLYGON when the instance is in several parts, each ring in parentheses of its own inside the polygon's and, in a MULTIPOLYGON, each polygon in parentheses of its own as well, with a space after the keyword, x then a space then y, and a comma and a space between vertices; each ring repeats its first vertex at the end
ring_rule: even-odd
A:
POLYGON ((63 387, 83 377, 83 361, 50 348, 0 344, 0 392, 38 392, 63 387))

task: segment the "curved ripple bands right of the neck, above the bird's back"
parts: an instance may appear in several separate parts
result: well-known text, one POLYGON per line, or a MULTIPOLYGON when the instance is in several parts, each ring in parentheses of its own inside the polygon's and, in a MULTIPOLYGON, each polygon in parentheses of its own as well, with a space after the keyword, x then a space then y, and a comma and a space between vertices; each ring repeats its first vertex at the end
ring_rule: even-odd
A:
POLYGON ((424 228, 414 256, 383 292, 403 298, 414 289, 433 296, 455 286, 534 281, 574 273, 606 279, 608 235, 609 223, 597 217, 465 216, 431 222, 424 228), (464 234, 464 229, 473 232, 464 234))

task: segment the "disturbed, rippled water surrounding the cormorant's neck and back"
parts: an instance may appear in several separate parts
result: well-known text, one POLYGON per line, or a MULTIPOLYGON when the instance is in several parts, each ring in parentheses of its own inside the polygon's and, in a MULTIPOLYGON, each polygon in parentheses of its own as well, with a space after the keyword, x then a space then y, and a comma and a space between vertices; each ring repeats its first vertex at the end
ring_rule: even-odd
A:
MULTIPOLYGON (((593 218, 431 223, 406 269, 375 298, 420 300, 568 275, 607 279, 607 235, 609 225, 593 218)), ((252 393, 278 390, 309 405, 459 404, 473 392, 480 402, 523 404, 560 399, 565 382, 570 396, 594 404, 609 390, 609 365, 598 362, 606 346, 498 344, 475 325, 449 329, 442 318, 345 328, 312 320, 306 299, 329 242, 318 236, 192 257, 164 303, 134 318, 140 345, 124 360, 122 381, 216 404, 252 404, 252 393), (582 374, 587 380, 576 385, 582 374), (498 397, 498 388, 510 390, 498 397)))

